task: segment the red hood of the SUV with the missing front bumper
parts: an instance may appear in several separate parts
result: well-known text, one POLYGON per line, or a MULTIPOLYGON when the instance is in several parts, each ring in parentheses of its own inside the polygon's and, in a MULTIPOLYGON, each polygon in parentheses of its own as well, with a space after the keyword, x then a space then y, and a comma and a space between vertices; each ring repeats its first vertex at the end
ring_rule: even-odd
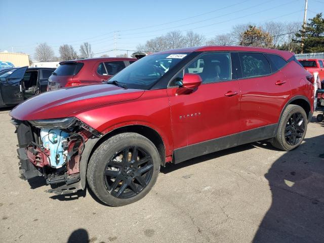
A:
POLYGON ((144 90, 123 89, 108 84, 63 88, 24 101, 10 115, 18 120, 61 118, 96 106, 135 100, 143 93, 144 90))

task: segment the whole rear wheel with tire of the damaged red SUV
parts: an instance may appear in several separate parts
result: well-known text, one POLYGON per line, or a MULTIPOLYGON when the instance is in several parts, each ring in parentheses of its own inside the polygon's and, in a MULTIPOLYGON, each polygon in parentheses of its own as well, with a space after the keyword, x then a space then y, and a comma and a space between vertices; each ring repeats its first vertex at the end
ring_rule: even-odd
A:
POLYGON ((272 146, 290 151, 298 147, 307 131, 307 115, 299 105, 288 105, 279 120, 272 146))

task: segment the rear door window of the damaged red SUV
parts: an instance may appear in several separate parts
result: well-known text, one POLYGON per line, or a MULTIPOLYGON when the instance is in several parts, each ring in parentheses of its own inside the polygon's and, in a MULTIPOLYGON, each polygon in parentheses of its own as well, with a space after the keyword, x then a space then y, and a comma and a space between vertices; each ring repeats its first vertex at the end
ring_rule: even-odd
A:
POLYGON ((242 77, 255 77, 271 73, 270 64, 261 53, 239 53, 242 77))

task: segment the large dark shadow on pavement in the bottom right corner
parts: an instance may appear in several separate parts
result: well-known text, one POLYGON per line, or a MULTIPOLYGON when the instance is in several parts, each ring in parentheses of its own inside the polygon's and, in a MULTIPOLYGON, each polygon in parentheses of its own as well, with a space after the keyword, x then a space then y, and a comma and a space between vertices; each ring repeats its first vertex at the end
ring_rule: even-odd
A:
POLYGON ((272 204, 253 242, 324 242, 324 135, 304 140, 265 174, 272 204))

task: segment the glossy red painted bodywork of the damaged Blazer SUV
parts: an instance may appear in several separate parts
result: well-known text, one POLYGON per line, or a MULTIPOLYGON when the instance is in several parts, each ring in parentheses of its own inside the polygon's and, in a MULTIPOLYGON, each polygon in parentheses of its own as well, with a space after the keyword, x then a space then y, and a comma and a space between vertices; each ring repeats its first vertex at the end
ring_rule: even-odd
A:
MULTIPOLYGON (((164 53, 204 51, 256 51, 274 53, 286 60, 293 55, 246 47, 185 48, 164 53)), ((161 136, 166 161, 170 161, 174 149, 278 123, 282 109, 295 96, 306 97, 312 112, 313 86, 307 75, 306 70, 291 61, 268 76, 219 83, 199 85, 195 74, 186 74, 184 83, 190 86, 187 88, 146 91, 112 85, 66 88, 28 99, 10 114, 19 120, 76 116, 103 134, 130 125, 146 126, 161 136)))

